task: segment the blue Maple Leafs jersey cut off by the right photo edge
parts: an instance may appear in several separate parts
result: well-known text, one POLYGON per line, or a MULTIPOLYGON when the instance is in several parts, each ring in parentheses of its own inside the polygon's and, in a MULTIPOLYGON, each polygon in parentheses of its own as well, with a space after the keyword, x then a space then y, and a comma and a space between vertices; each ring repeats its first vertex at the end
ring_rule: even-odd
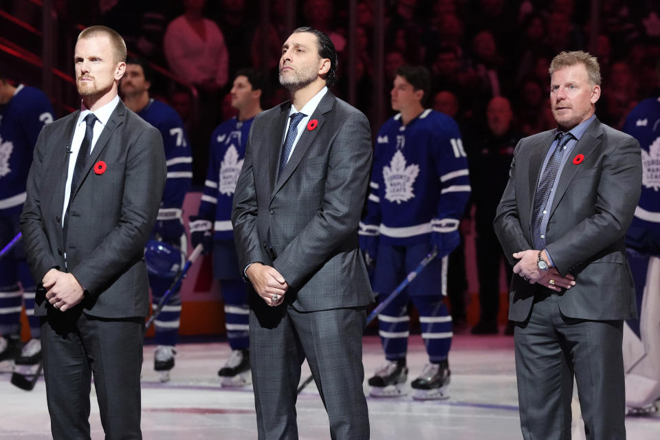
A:
POLYGON ((641 197, 626 241, 635 248, 655 243, 660 252, 660 98, 650 98, 630 111, 624 129, 641 146, 641 197))

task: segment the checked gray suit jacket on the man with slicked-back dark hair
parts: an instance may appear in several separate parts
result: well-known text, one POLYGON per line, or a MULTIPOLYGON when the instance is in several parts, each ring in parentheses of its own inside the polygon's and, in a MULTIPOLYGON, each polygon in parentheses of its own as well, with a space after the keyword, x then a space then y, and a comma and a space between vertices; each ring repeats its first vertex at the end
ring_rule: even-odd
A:
MULTIPOLYGON (((371 172, 369 121, 330 92, 277 178, 290 102, 256 116, 236 184, 232 223, 239 267, 272 265, 300 311, 373 301, 358 245, 371 172), (272 247, 276 259, 272 259, 272 247)), ((261 299, 259 299, 261 300, 261 299)))

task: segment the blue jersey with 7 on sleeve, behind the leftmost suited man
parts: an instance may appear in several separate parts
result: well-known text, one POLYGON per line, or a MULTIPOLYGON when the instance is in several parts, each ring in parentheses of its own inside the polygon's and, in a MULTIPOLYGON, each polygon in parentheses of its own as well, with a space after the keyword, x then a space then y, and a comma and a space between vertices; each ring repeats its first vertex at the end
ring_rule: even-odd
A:
POLYGON ((175 109, 153 98, 137 114, 160 131, 165 147, 167 181, 157 220, 180 219, 192 180, 192 155, 184 122, 175 109))

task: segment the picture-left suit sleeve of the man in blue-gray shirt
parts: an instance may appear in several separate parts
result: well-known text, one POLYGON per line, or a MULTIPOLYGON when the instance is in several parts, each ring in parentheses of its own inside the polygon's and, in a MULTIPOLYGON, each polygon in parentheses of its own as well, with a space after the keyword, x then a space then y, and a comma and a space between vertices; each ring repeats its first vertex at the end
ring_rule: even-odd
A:
POLYGON ((509 183, 507 183, 502 199, 500 199, 497 206, 493 222, 495 234, 502 245, 507 261, 512 266, 518 263, 513 256, 515 252, 531 249, 531 245, 525 239, 522 228, 520 228, 520 217, 518 216, 516 203, 516 162, 521 149, 522 140, 518 141, 518 145, 516 145, 514 159, 511 160, 511 168, 509 169, 509 183))

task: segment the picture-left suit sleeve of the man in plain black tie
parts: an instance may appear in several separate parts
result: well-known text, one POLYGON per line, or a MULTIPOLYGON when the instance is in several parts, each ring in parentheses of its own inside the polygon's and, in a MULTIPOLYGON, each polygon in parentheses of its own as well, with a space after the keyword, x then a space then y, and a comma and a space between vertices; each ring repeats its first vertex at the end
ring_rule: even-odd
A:
POLYGON ((42 173, 46 152, 46 131, 47 129, 41 130, 34 147, 32 166, 30 166, 30 173, 28 173, 28 196, 23 204, 23 213, 21 214, 21 231, 23 232, 25 254, 28 255, 32 277, 38 285, 41 284, 46 272, 53 267, 58 267, 57 259, 50 252, 50 242, 43 228, 41 195, 39 193, 39 176, 42 173))

